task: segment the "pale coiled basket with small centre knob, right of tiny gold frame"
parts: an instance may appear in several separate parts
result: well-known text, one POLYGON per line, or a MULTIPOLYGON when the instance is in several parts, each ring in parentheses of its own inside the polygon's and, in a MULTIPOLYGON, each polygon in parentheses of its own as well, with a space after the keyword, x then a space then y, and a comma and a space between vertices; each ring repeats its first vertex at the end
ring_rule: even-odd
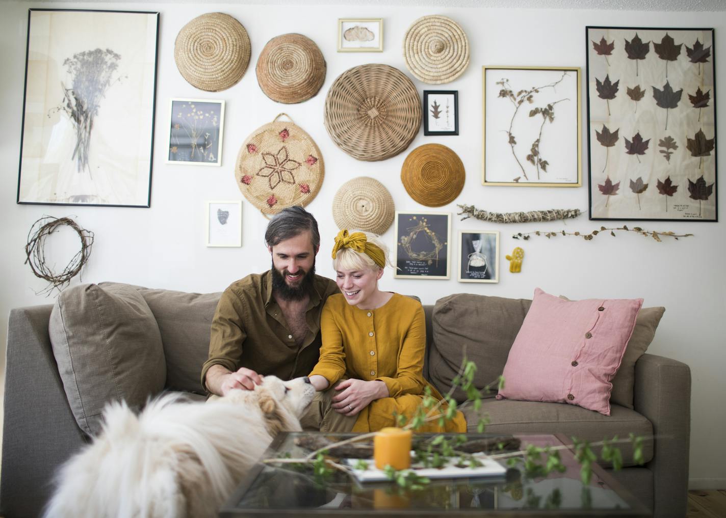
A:
POLYGON ((469 40, 451 18, 424 16, 406 32, 404 57, 418 80, 435 85, 449 83, 469 66, 469 40))

